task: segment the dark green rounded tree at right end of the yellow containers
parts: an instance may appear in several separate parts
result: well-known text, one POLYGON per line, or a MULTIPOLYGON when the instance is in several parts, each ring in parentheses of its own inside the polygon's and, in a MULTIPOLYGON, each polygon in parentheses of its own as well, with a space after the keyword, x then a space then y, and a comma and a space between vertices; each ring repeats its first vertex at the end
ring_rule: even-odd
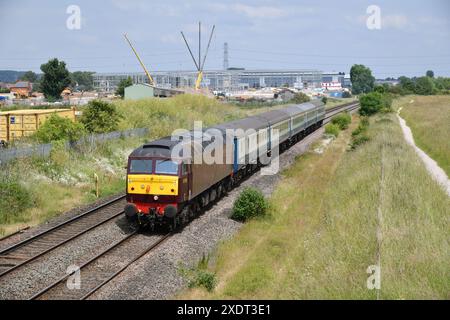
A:
POLYGON ((83 111, 81 122, 91 133, 111 132, 118 129, 121 115, 116 106, 100 100, 90 101, 83 111))

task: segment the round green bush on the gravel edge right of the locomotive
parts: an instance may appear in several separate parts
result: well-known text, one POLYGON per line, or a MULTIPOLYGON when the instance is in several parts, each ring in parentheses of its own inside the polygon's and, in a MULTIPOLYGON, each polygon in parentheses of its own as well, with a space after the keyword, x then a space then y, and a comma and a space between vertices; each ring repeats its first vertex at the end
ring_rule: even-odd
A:
POLYGON ((232 218, 239 221, 263 216, 268 208, 267 201, 261 191, 255 188, 245 188, 233 206, 232 218))

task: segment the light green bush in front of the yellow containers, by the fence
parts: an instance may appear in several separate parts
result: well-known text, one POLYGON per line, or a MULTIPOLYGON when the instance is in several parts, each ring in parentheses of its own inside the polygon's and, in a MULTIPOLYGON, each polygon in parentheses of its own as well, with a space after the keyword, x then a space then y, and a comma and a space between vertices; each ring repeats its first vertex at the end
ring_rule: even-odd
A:
POLYGON ((39 142, 76 141, 85 133, 81 123, 52 114, 35 133, 39 142))

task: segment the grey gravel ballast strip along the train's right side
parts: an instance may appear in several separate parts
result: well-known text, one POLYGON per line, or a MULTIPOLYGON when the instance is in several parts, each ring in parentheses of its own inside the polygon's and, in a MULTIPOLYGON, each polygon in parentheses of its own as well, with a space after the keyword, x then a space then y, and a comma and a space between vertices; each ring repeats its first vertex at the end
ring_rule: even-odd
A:
MULTIPOLYGON (((280 167, 290 166, 296 156, 304 153, 312 142, 323 134, 317 130, 280 156, 280 167)), ((211 252, 219 242, 231 237, 242 226, 229 219, 234 200, 246 186, 259 188, 270 195, 280 174, 255 174, 201 217, 192 221, 182 232, 175 234, 155 251, 150 252, 126 272, 112 280, 91 299, 169 299, 186 285, 179 273, 181 265, 195 265, 204 254, 211 252)), ((81 275, 82 276, 82 275, 81 275)))

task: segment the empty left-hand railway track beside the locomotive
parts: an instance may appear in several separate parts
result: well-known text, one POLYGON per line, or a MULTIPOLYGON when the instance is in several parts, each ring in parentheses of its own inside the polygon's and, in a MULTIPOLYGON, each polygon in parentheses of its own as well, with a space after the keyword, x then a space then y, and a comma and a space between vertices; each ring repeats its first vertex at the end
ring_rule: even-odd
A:
POLYGON ((119 196, 0 251, 0 279, 123 213, 119 196), (120 209, 119 209, 120 208, 120 209))

